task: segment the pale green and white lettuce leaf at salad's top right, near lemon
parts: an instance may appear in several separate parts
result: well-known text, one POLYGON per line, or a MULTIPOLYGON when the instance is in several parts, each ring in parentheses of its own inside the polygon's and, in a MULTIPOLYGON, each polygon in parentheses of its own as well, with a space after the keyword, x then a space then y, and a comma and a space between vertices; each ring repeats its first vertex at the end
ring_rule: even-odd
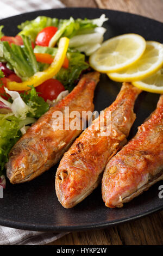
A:
POLYGON ((106 20, 108 19, 105 18, 105 15, 96 20, 74 20, 72 17, 70 20, 60 20, 60 29, 49 41, 49 46, 55 46, 61 36, 67 36, 70 38, 70 47, 79 50, 78 47, 84 46, 82 51, 86 55, 90 55, 100 47, 103 41, 103 34, 106 29, 102 25, 106 20))

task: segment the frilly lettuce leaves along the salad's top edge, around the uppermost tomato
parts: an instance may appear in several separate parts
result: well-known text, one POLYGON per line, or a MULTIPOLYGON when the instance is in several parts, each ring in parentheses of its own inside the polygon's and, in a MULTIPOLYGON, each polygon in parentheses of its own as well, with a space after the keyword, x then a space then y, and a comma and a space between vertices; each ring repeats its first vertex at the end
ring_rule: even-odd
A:
POLYGON ((22 23, 18 28, 22 30, 19 34, 28 35, 34 41, 37 34, 43 28, 48 26, 57 27, 58 31, 49 41, 49 47, 54 47, 62 36, 66 36, 70 38, 70 45, 73 45, 73 42, 76 41, 75 46, 70 47, 78 50, 78 47, 86 46, 86 50, 85 48, 82 49, 86 55, 90 55, 93 51, 97 50, 103 41, 103 34, 106 29, 103 28, 102 25, 106 20, 108 20, 108 18, 106 18, 104 14, 102 14, 99 19, 93 20, 74 20, 73 17, 70 17, 69 20, 58 20, 39 16, 35 20, 22 23), (88 41, 85 41, 85 39, 88 41))

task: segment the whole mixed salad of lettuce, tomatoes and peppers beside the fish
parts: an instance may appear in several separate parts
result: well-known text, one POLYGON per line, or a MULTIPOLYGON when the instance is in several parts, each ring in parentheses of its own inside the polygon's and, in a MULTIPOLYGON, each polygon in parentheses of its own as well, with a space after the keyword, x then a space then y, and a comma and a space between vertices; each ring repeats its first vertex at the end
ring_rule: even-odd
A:
POLYGON ((88 56, 103 42, 108 20, 59 20, 39 16, 18 25, 16 36, 0 26, 0 185, 11 148, 55 102, 90 70, 88 56))

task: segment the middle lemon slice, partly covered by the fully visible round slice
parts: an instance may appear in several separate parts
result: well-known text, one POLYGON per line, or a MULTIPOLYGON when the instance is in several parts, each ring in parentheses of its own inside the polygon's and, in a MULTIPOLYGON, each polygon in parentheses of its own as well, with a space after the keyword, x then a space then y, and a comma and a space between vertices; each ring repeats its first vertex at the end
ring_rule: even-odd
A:
POLYGON ((163 65, 163 45, 147 41, 146 50, 136 63, 121 71, 108 73, 110 79, 118 82, 133 82, 153 75, 163 65))

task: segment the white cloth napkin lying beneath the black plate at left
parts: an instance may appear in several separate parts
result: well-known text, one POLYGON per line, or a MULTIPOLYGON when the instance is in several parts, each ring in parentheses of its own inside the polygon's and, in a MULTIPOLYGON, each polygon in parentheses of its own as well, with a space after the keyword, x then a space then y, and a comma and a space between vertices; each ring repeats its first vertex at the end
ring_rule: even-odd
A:
MULTIPOLYGON (((59 0, 3 0, 0 19, 34 10, 65 7, 59 0)), ((37 232, 0 226, 0 245, 45 245, 67 233, 37 232)))

